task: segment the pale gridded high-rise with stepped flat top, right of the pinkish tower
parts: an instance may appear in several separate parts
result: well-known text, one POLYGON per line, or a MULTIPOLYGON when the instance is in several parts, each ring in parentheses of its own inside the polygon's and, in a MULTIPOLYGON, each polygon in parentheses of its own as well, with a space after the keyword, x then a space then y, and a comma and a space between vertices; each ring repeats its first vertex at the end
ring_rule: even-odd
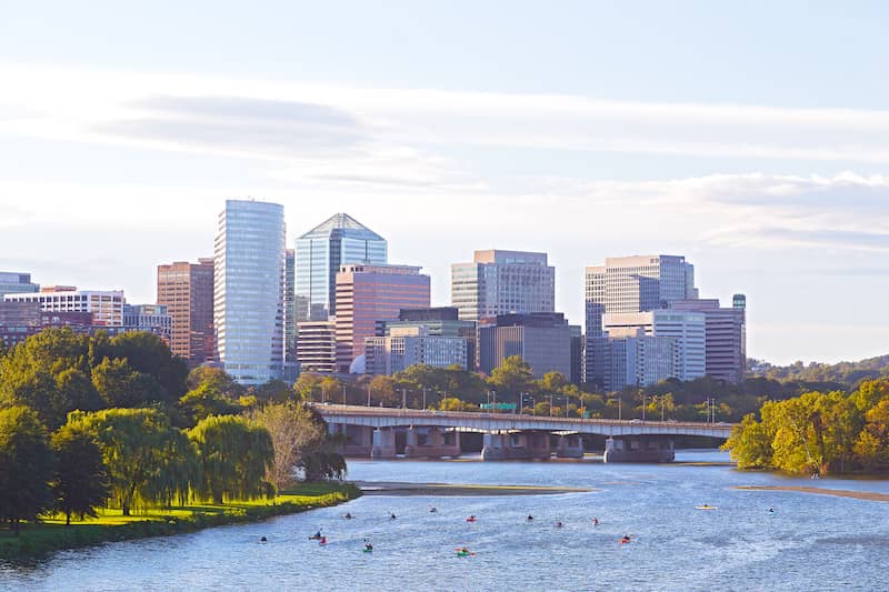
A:
POLYGON ((471 263, 451 265, 451 304, 460 319, 553 312, 556 268, 547 253, 476 251, 471 263))

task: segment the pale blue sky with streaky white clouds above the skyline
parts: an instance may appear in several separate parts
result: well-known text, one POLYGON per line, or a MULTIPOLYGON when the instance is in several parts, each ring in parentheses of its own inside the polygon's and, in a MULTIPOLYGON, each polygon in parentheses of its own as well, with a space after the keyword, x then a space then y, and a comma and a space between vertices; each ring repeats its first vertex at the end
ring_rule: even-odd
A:
POLYGON ((748 354, 889 352, 881 2, 0 0, 0 270, 154 300, 226 199, 336 212, 432 277, 683 254, 748 354))

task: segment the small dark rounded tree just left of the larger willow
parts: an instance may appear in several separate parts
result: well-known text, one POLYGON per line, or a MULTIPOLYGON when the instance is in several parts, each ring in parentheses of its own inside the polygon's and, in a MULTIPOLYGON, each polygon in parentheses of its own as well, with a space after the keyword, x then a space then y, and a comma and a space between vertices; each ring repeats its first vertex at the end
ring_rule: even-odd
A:
POLYGON ((71 514, 96 516, 96 508, 110 495, 108 472, 102 462, 102 451, 91 434, 82 428, 62 425, 51 439, 56 455, 52 493, 56 511, 64 514, 71 524, 71 514))

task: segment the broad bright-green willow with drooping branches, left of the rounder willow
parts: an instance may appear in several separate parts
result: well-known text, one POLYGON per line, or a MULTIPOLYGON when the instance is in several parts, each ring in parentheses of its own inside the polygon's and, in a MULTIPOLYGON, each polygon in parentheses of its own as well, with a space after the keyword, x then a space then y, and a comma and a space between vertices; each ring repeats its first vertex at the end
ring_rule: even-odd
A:
POLYGON ((106 409, 94 413, 76 411, 68 418, 74 429, 96 438, 108 469, 112 498, 123 515, 137 501, 154 503, 170 468, 166 458, 170 440, 179 430, 171 428, 167 415, 157 409, 106 409))

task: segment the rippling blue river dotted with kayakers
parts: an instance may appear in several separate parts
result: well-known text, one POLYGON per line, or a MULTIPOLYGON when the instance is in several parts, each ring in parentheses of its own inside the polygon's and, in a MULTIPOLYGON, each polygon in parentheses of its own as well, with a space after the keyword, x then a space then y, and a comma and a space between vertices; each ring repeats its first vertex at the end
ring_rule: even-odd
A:
MULTIPOLYGON (((726 460, 716 451, 677 453, 677 461, 726 460)), ((366 495, 259 524, 64 551, 27 566, 0 564, 0 589, 889 590, 889 504, 732 489, 889 493, 886 481, 810 481, 725 465, 471 460, 351 461, 349 476, 595 491, 366 495), (701 504, 718 509, 696 510, 701 504), (430 505, 438 511, 430 513, 430 505), (342 519, 346 512, 354 519, 342 519), (468 523, 470 514, 478 521, 468 523), (328 535, 327 546, 307 539, 317 529, 328 535), (625 534, 631 543, 618 542, 625 534), (372 553, 361 552, 364 538, 372 553), (457 558, 462 545, 476 555, 457 558)))

